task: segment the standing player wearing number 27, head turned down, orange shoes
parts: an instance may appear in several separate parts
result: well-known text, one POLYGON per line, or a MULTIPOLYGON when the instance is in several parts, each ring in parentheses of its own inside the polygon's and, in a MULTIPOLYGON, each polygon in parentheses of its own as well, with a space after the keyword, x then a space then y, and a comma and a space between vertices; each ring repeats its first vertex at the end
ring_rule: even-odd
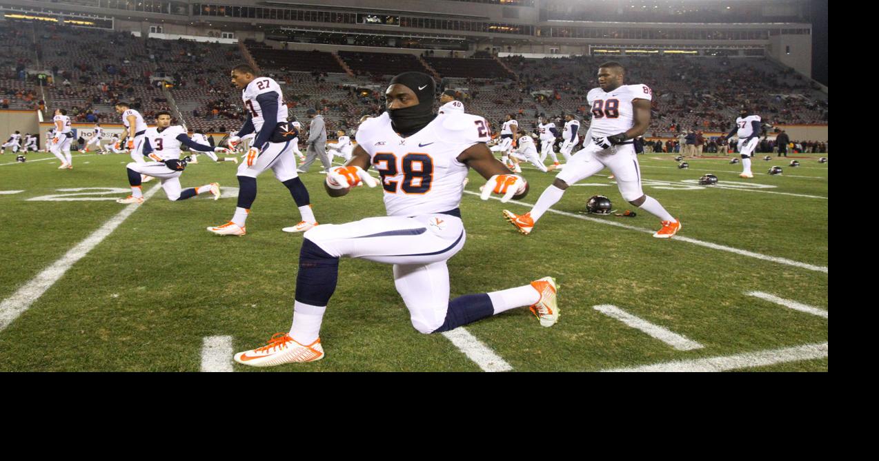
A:
POLYGON ((248 116, 241 130, 227 140, 229 147, 235 148, 240 137, 249 133, 257 133, 257 137, 247 151, 246 160, 238 165, 238 206, 232 220, 222 226, 207 227, 207 230, 220 235, 246 234, 244 222, 257 199, 257 176, 266 169, 272 169, 275 178, 287 186, 301 213, 299 224, 282 230, 304 232, 317 226, 315 214, 311 212, 309 191, 296 174, 291 142, 297 133, 287 123, 287 104, 284 104, 280 86, 269 77, 258 76, 246 64, 233 68, 231 76, 232 83, 243 90, 242 99, 248 116))

